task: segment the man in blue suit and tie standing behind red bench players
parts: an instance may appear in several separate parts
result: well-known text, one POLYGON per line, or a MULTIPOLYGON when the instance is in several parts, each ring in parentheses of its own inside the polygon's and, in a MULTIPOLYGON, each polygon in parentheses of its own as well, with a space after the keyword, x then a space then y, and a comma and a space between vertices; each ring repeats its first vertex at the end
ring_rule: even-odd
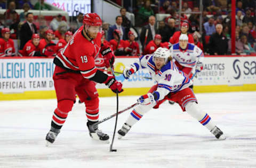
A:
POLYGON ((122 16, 116 16, 116 23, 113 26, 110 26, 108 29, 108 36, 107 36, 108 41, 110 41, 111 39, 114 39, 113 32, 116 29, 120 30, 120 32, 121 32, 121 36, 120 36, 121 40, 125 40, 125 29, 122 26, 122 22, 123 22, 122 16))

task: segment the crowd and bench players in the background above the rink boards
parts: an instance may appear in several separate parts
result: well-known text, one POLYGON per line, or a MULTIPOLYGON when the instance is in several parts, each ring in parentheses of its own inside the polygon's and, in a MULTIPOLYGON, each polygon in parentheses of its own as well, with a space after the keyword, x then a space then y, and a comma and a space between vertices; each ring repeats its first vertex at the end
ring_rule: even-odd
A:
MULTIPOLYGON (((114 2, 120 4, 122 1, 114 2)), ((189 43, 197 45, 206 55, 227 55, 231 52, 230 0, 203 1, 202 34, 199 33, 200 14, 189 13, 199 12, 198 0, 183 0, 182 4, 179 4, 178 0, 141 0, 133 1, 132 6, 129 4, 131 1, 123 2, 124 7, 116 14, 115 24, 109 25, 107 22, 102 24, 103 41, 113 48, 117 56, 150 54, 158 47, 170 48, 171 45, 179 42, 177 37, 180 33, 187 33, 189 43), (179 5, 182 6, 182 12, 185 12, 181 14, 180 19, 179 5), (127 11, 135 14, 135 25, 126 17, 127 11), (156 21, 157 13, 170 14, 170 16, 156 21)), ((256 1, 236 1, 236 54, 256 54, 255 5, 256 1)), ((35 16, 29 12, 30 9, 39 10, 39 8, 51 10, 50 5, 44 3, 44 0, 38 1, 35 5, 29 0, 13 0, 8 1, 7 6, 6 0, 0 0, 0 8, 6 9, 6 7, 6 12, 0 15, 2 39, 7 41, 6 43, 10 41, 10 45, 5 44, 5 47, 11 46, 12 39, 20 39, 20 55, 23 55, 22 50, 24 51, 29 41, 34 44, 34 39, 40 41, 44 39, 44 45, 42 42, 38 44, 41 46, 40 49, 37 48, 41 51, 39 55, 54 55, 53 53, 58 52, 59 49, 52 51, 44 48, 51 46, 49 44, 54 43, 52 41, 54 39, 68 40, 69 38, 66 37, 83 25, 83 13, 78 13, 76 19, 69 23, 61 14, 54 17, 35 16), (18 14, 15 9, 23 9, 23 12, 18 14), (33 35, 36 38, 33 39, 33 35)), ((65 43, 62 45, 65 46, 65 43)), ((5 56, 12 56, 13 52, 7 54, 5 51, 0 51, 5 53, 5 56)), ((38 53, 34 56, 37 55, 38 53)))

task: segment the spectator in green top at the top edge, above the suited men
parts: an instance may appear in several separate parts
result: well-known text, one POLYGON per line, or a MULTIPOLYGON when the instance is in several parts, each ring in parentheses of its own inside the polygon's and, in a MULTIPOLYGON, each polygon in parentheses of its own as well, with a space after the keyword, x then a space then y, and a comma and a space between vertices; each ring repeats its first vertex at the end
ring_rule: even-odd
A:
POLYGON ((150 0, 146 0, 144 6, 139 9, 138 17, 141 23, 146 23, 149 16, 154 15, 154 11, 151 9, 150 0))

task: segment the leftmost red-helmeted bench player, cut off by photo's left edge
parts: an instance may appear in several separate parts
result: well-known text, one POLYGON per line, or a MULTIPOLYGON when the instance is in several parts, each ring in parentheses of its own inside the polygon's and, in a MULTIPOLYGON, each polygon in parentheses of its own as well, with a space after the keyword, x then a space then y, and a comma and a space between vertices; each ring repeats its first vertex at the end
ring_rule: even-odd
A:
POLYGON ((3 38, 0 38, 0 57, 14 56, 15 48, 13 40, 10 39, 10 29, 3 28, 1 33, 3 38))

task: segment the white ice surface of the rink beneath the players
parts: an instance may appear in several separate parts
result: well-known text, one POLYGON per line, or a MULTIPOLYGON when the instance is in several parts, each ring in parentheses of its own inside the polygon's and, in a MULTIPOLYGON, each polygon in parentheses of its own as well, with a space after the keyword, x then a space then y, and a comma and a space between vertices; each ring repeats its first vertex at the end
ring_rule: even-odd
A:
MULTIPOLYGON (((256 167, 256 92, 196 96, 226 140, 216 140, 178 104, 165 102, 124 139, 115 139, 116 153, 89 137, 83 104, 74 105, 57 140, 45 147, 56 100, 0 102, 0 167, 256 167)), ((119 110, 137 98, 119 97, 119 110)), ((116 97, 100 98, 100 120, 115 111, 116 97)), ((117 130, 130 112, 118 116, 117 130)), ((99 125, 110 139, 114 124, 115 118, 99 125)))

